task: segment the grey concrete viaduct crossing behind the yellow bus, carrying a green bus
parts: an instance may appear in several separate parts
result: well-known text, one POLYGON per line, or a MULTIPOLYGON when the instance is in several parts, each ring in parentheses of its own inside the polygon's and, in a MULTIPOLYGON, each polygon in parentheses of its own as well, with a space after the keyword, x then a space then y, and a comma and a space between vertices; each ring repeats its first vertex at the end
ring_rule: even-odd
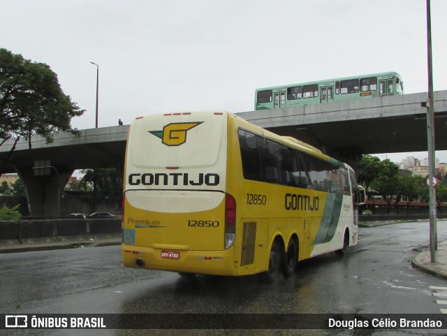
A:
MULTIPOLYGON (((293 136, 356 168, 361 154, 427 150, 427 93, 378 97, 322 105, 237 113, 247 121, 280 135, 293 136)), ((435 143, 447 149, 447 91, 434 93, 435 143)), ((137 116, 135 116, 137 117, 137 116)), ((61 191, 76 169, 123 168, 129 126, 80 131, 78 138, 59 133, 54 143, 31 138, 15 150, 0 147, 0 173, 17 172, 27 186, 32 215, 58 212, 61 191), (47 168, 36 168, 36 166, 47 168), (46 174, 36 176, 36 174, 46 174)))

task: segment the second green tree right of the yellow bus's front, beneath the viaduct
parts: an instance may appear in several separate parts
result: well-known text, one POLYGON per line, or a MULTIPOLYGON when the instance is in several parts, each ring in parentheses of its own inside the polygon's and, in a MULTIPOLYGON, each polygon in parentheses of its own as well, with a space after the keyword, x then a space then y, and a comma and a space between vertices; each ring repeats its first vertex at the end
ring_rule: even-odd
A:
POLYGON ((390 159, 380 161, 379 176, 371 182, 371 187, 386 200, 388 214, 390 213, 391 203, 396 199, 400 189, 400 181, 399 166, 390 159))

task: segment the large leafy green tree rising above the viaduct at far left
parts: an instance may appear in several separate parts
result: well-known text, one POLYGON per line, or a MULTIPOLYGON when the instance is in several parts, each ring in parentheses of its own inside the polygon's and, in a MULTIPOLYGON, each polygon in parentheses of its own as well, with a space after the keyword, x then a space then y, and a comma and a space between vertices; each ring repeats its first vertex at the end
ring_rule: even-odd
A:
POLYGON ((64 94, 50 66, 0 48, 0 145, 10 138, 17 144, 24 137, 31 148, 34 134, 47 143, 58 132, 77 135, 71 118, 82 113, 84 110, 64 94))

